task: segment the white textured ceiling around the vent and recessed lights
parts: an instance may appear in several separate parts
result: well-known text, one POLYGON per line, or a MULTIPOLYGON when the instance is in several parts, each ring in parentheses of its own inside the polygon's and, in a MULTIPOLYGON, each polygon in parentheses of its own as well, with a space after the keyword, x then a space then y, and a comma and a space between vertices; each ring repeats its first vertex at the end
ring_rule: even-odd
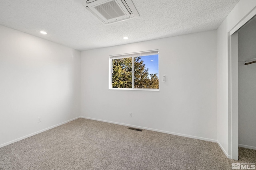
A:
POLYGON ((83 0, 0 0, 0 25, 82 51, 214 30, 239 0, 132 1, 139 18, 104 25, 83 0))

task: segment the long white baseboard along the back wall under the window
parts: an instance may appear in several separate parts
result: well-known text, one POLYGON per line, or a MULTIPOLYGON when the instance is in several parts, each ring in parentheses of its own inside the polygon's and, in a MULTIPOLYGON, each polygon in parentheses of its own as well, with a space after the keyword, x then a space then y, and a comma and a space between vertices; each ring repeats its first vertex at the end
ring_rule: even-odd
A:
POLYGON ((102 120, 102 119, 95 119, 92 117, 84 117, 84 116, 80 116, 81 118, 84 119, 91 119, 91 120, 96 120, 96 121, 103 121, 103 122, 107 122, 107 123, 113 123, 113 124, 117 124, 117 125, 123 125, 123 126, 129 126, 129 127, 136 127, 139 129, 146 129, 146 130, 150 130, 150 131, 156 131, 156 132, 162 132, 162 133, 167 133, 167 134, 171 134, 171 135, 177 135, 177 136, 182 136, 182 137, 189 137, 189 138, 193 138, 193 139, 200 139, 203 141, 210 141, 210 142, 214 142, 217 143, 217 140, 214 139, 208 139, 208 138, 203 138, 203 137, 196 137, 196 136, 192 136, 192 135, 184 135, 181 133, 174 133, 174 132, 169 132, 169 131, 162 131, 162 130, 158 130, 158 129, 152 129, 152 128, 148 128, 148 127, 141 127, 141 126, 135 126, 135 125, 129 125, 129 124, 125 124, 125 123, 118 123, 118 122, 113 122, 113 121, 106 121, 106 120, 102 120))

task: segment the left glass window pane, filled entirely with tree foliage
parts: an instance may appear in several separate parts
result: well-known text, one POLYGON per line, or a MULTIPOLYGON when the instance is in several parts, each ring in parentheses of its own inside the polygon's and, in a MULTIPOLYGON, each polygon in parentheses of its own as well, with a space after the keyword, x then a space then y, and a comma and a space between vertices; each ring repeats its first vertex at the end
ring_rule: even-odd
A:
POLYGON ((112 59, 112 88, 132 88, 132 57, 112 59))

